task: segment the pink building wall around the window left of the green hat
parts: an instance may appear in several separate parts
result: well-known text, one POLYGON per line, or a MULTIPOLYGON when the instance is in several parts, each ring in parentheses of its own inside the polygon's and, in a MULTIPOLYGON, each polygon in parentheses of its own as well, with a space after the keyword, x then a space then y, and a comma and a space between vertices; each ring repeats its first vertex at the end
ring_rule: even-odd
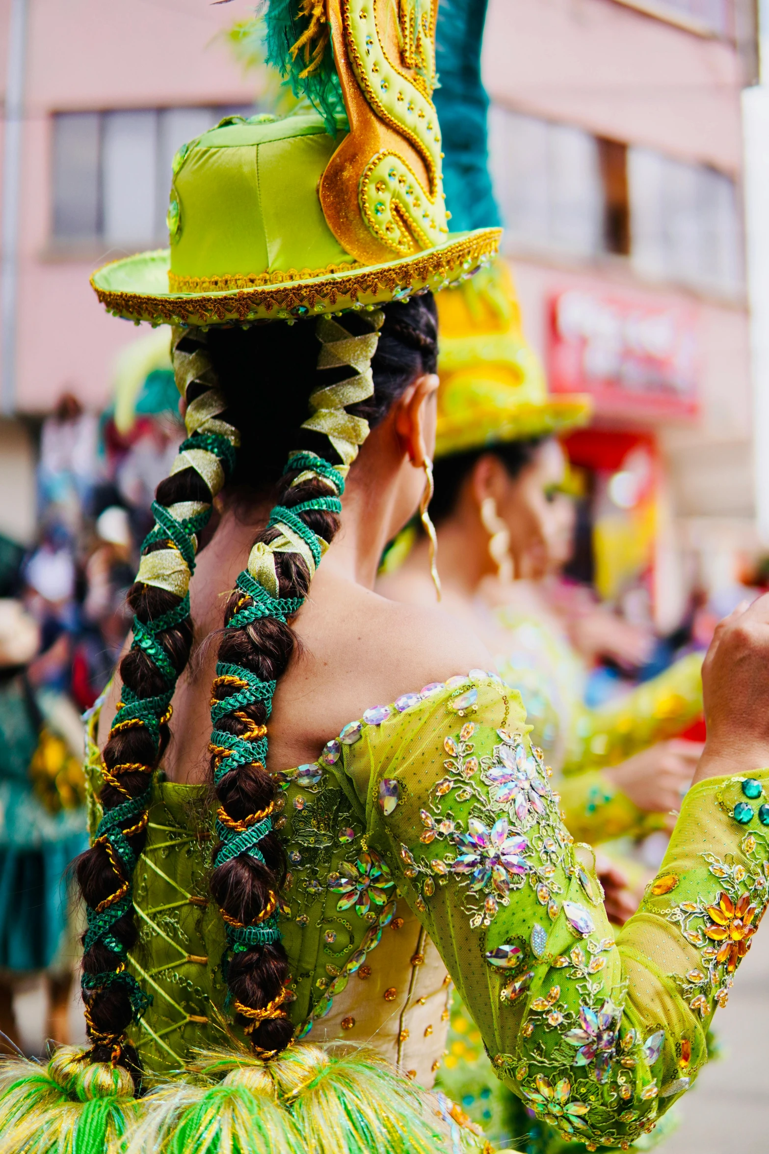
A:
MULTIPOLYGON (((9 3, 0 6, 5 69, 9 3)), ((135 334, 107 316, 89 285, 122 250, 66 258, 51 247, 51 113, 184 104, 248 104, 246 78, 221 32, 244 0, 29 0, 16 403, 45 412, 63 389, 86 405, 108 397, 116 352, 135 334)))

